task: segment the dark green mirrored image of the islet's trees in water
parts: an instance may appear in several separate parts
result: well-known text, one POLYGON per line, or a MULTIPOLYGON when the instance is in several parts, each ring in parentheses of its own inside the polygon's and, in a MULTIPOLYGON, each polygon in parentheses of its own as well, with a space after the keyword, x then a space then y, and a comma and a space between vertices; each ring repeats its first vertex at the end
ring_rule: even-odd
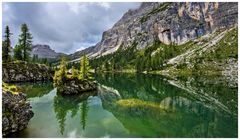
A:
POLYGON ((54 111, 59 123, 60 133, 63 135, 65 130, 65 121, 68 112, 71 112, 71 118, 75 117, 80 110, 80 123, 83 130, 86 128, 89 96, 95 96, 96 92, 88 92, 82 95, 61 95, 54 97, 54 111))

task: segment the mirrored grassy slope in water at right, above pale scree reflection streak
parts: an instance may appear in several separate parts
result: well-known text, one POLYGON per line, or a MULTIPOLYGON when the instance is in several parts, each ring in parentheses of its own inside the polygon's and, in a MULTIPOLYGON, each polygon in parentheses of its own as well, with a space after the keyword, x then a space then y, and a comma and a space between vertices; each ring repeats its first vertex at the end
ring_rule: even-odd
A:
POLYGON ((238 111, 238 86, 223 76, 192 76, 178 78, 173 81, 175 85, 185 90, 197 93, 197 98, 208 97, 210 102, 218 103, 225 111, 237 115, 238 111), (201 96, 202 95, 202 96, 201 96))

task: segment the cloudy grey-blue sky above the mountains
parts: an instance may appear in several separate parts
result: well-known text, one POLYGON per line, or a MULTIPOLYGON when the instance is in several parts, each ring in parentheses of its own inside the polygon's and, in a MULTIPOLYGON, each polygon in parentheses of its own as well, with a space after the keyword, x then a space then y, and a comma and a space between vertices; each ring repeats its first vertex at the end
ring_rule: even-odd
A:
POLYGON ((95 45, 139 3, 3 3, 3 30, 10 27, 15 45, 22 23, 27 23, 33 44, 48 44, 56 52, 73 53, 95 45))

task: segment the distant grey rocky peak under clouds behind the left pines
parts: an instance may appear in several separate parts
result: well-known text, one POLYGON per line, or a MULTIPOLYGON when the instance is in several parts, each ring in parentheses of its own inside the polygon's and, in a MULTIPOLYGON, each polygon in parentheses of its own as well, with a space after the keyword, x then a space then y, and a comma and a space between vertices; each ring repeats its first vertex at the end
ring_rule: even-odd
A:
POLYGON ((37 44, 32 47, 31 56, 37 55, 38 58, 58 58, 63 53, 57 53, 49 45, 37 44))

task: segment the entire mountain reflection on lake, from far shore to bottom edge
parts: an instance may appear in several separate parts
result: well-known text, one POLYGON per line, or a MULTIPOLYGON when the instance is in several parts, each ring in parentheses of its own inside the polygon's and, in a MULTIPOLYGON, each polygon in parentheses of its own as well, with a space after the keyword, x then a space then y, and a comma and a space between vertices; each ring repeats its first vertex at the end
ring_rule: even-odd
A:
MULTIPOLYGON (((220 86, 210 87, 207 82, 202 84, 197 80, 192 86, 182 88, 176 84, 178 81, 169 83, 169 79, 155 75, 108 74, 98 75, 97 80, 104 88, 101 91, 108 93, 101 95, 103 107, 131 134, 139 137, 237 136, 237 117, 232 113, 236 108, 221 102, 230 100, 223 99, 229 92, 233 95, 231 100, 236 100, 236 89, 226 92, 223 89, 230 89, 226 85, 220 84, 223 87, 219 90, 214 87, 220 86), (217 93, 211 95, 211 91, 217 93), (116 93, 120 93, 120 97, 116 93)), ((183 85, 188 83, 185 81, 183 85)))

